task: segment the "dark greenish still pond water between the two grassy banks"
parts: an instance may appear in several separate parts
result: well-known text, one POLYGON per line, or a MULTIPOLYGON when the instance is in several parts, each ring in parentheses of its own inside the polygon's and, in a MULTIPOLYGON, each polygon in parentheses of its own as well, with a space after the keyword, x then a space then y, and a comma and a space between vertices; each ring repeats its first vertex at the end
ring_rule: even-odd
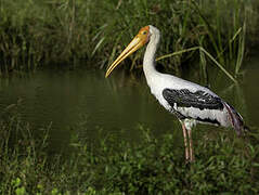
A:
MULTIPOLYGON (((259 127, 259 58, 250 58, 245 67, 238 86, 217 67, 210 67, 209 87, 232 104, 249 126, 259 127)), ((181 77, 200 83, 198 73, 192 69, 181 77)), ((80 136, 93 142, 100 129, 108 133, 122 130, 122 139, 138 140, 140 123, 157 136, 172 132, 176 139, 182 138, 180 125, 150 94, 143 75, 137 78, 117 69, 105 79, 104 70, 48 69, 0 81, 0 110, 21 100, 18 110, 24 120, 36 127, 51 123, 51 144, 56 148, 69 142, 69 127, 78 122, 87 127, 83 132, 78 130, 80 136)))

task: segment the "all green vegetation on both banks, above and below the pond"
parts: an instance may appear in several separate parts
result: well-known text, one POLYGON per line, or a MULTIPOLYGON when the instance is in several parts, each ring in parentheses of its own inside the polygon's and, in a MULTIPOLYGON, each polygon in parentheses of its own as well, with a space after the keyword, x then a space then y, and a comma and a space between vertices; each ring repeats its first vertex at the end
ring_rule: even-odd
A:
MULTIPOLYGON (((87 61, 106 68, 148 24, 163 34, 158 56, 203 47, 237 76, 244 56, 258 46, 258 10, 252 0, 0 0, 1 76, 87 61)), ((141 56, 131 56, 128 67, 137 70, 141 56)), ((164 64, 177 73, 197 58, 204 69, 206 58, 197 51, 164 64)), ((51 127, 33 129, 16 106, 7 107, 0 120, 0 194, 259 193, 258 133, 239 139, 222 130, 206 136, 195 143, 195 164, 185 165, 171 134, 158 141, 140 126, 139 144, 101 134, 93 147, 75 135, 68 158, 50 155, 51 127)))

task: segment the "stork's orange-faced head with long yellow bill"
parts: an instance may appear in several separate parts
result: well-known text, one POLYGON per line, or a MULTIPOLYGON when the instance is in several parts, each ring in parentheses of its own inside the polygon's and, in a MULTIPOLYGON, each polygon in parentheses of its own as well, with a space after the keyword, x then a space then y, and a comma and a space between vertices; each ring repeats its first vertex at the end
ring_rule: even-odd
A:
POLYGON ((135 52, 138 49, 142 48, 146 42, 150 41, 150 38, 153 34, 156 32, 156 30, 159 34, 159 30, 152 26, 145 26, 142 27, 139 31, 139 34, 133 38, 133 40, 129 43, 129 46, 122 51, 122 53, 114 61, 114 63, 108 67, 105 77, 108 77, 108 75, 113 72, 113 69, 119 65, 120 62, 122 62, 127 56, 135 52))

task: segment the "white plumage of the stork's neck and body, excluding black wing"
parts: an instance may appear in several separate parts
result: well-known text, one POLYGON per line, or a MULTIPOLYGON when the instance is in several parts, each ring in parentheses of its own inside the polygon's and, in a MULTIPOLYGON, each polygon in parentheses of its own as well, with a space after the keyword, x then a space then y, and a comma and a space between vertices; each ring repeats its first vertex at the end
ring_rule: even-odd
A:
MULTIPOLYGON (((199 84, 183 80, 172 75, 158 73, 155 69, 155 53, 159 44, 159 40, 160 40, 159 30, 156 27, 150 25, 150 42, 146 47, 144 55, 143 69, 147 84, 151 88, 152 94, 155 95, 155 98, 166 109, 171 110, 173 108, 176 110, 179 110, 186 118, 190 117, 195 119, 199 117, 202 119, 205 118, 209 118, 211 120, 216 119, 217 121, 219 121, 220 126, 234 127, 234 125, 231 121, 231 113, 230 113, 230 110, 232 109, 231 106, 229 106, 216 93, 199 84), (174 103, 174 106, 172 107, 163 96, 164 89, 174 89, 174 90, 186 89, 192 93, 195 93, 197 91, 204 91, 212 95, 213 98, 220 99, 224 107, 222 110, 207 108, 200 109, 196 107, 177 106, 177 103, 174 103)), ((242 119, 241 115, 238 115, 238 117, 242 119)))

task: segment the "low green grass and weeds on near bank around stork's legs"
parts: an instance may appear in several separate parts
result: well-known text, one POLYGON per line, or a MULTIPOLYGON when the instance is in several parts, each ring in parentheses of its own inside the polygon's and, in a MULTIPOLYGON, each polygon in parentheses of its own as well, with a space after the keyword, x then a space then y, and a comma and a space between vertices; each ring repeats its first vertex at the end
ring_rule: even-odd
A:
POLYGON ((139 130, 139 143, 101 133, 92 145, 73 135, 67 157, 48 153, 50 127, 31 128, 10 106, 0 121, 0 194, 259 193, 258 129, 243 139, 222 129, 194 131, 191 165, 172 134, 156 139, 148 128, 139 130))

